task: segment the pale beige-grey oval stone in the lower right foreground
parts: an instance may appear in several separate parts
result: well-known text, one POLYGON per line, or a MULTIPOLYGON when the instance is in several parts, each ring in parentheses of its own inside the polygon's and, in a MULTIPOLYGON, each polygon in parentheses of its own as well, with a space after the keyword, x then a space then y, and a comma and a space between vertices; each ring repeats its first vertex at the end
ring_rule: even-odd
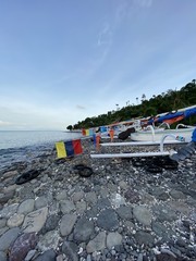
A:
POLYGON ((145 207, 143 206, 136 206, 133 209, 133 215, 134 217, 140 222, 142 224, 146 225, 146 226, 150 226, 151 224, 151 219, 152 215, 149 212, 149 210, 147 210, 145 207))

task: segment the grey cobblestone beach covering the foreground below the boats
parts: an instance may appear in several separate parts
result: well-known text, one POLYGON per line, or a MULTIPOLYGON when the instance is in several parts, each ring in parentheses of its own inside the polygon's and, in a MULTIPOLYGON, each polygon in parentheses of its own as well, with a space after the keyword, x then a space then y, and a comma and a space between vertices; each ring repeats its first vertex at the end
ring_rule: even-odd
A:
MULTIPOLYGON (((0 261, 196 260, 196 154, 152 173, 131 159, 57 160, 53 149, 0 172, 0 261), (74 166, 86 164, 82 177, 74 166), (22 185, 22 173, 40 174, 22 185)), ((156 148, 128 148, 128 151, 156 148)), ((101 148, 105 151, 127 148, 101 148)), ((142 159, 139 160, 142 161, 142 159)))

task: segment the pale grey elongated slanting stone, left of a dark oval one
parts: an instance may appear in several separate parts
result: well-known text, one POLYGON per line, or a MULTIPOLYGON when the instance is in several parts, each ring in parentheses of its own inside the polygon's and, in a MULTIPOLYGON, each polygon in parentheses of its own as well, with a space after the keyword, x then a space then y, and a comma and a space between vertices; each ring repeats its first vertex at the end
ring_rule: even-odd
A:
POLYGON ((60 224, 60 233, 62 236, 68 236, 72 232, 77 216, 75 214, 65 214, 63 215, 60 224))

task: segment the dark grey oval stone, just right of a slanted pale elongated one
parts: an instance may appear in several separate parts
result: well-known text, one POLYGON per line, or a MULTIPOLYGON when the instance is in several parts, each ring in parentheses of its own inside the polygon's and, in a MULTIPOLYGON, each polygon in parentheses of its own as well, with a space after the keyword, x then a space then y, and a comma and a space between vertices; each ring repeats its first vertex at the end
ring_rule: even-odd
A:
POLYGON ((82 217, 74 228, 74 239, 78 243, 87 241, 94 233, 94 222, 82 217))

